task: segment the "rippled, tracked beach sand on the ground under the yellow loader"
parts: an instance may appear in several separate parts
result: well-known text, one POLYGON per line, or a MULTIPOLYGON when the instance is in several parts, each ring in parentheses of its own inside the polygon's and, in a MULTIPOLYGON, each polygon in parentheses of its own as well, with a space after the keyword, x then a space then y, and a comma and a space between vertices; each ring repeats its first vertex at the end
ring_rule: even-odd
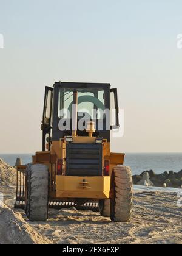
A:
POLYGON ((47 222, 29 222, 23 210, 13 209, 15 188, 1 186, 0 191, 8 207, 8 210, 3 205, 0 207, 0 243, 6 242, 3 239, 11 229, 14 235, 8 243, 166 244, 182 241, 182 207, 177 206, 177 193, 135 192, 132 220, 122 224, 112 223, 99 213, 78 212, 75 208, 50 210, 47 222), (4 216, 9 215, 10 223, 2 230, 4 216), (19 236, 22 229, 26 241, 24 236, 19 236))

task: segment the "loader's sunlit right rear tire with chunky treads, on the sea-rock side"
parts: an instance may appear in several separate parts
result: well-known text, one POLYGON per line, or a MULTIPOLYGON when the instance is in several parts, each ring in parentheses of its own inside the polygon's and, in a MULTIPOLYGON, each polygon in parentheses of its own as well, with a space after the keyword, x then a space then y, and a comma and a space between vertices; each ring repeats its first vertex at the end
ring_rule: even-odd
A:
POLYGON ((130 222, 133 205, 133 183, 132 171, 129 167, 116 166, 113 168, 111 192, 111 220, 114 222, 130 222))

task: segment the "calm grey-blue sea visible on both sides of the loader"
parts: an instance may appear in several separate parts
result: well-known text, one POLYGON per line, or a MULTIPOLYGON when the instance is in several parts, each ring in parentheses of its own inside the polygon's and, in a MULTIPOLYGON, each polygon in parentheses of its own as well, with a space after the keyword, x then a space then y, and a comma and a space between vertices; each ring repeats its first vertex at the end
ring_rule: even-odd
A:
MULTIPOLYGON (((15 165, 16 158, 21 157, 23 164, 32 162, 33 154, 0 154, 9 165, 15 165)), ((178 172, 182 169, 182 153, 126 154, 124 165, 132 168, 133 174, 153 169, 157 174, 164 171, 178 172)))

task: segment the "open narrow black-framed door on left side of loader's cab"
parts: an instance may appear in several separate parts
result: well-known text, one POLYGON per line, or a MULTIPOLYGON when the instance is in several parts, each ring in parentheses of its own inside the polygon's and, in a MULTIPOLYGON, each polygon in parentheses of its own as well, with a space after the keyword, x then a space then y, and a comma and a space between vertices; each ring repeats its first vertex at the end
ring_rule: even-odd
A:
POLYGON ((42 119, 42 151, 46 151, 46 143, 51 143, 51 119, 52 119, 53 88, 45 87, 44 110, 42 119))

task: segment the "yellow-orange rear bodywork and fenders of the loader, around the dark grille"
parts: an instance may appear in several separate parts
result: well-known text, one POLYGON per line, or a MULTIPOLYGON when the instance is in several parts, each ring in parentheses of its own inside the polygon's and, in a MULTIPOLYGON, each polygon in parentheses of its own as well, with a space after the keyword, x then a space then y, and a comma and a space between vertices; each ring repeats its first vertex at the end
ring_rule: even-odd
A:
MULTIPOLYGON (((94 143, 95 137, 74 137, 73 143, 94 143)), ((56 162, 58 159, 66 159, 66 141, 53 141, 50 151, 36 152, 33 163, 43 163, 49 167, 50 179, 53 185, 49 190, 50 199, 109 199, 110 176, 116 165, 123 165, 124 154, 110 152, 110 143, 103 140, 103 166, 104 160, 110 163, 110 176, 75 177, 63 175, 55 176, 56 162)))

